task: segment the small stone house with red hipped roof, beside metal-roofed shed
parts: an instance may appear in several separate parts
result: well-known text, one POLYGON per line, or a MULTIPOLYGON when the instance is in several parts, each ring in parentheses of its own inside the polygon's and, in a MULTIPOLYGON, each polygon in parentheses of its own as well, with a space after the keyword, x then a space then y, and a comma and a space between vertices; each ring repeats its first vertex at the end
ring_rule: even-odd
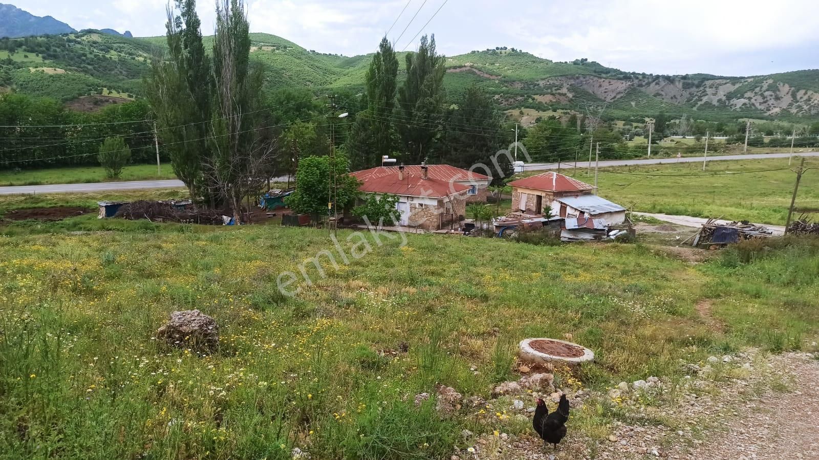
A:
POLYGON ((592 195, 596 190, 593 185, 552 171, 518 179, 509 185, 512 186, 512 210, 529 214, 543 214, 546 208, 551 210, 558 198, 592 195))

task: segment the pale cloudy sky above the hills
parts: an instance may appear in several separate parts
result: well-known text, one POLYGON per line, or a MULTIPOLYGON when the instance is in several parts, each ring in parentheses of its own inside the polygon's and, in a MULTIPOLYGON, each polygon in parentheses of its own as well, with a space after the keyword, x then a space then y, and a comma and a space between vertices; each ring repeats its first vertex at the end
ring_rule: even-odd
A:
MULTIPOLYGON (((135 36, 164 33, 167 0, 5 1, 37 16, 54 16, 75 29, 128 29, 135 36)), ((554 61, 586 57, 654 74, 752 75, 819 67, 817 0, 246 0, 246 4, 252 31, 348 56, 372 52, 389 30, 398 50, 413 49, 416 34, 434 33, 439 51, 450 56, 487 47, 518 47, 554 61)), ((199 1, 206 34, 213 29, 214 5, 199 1)))

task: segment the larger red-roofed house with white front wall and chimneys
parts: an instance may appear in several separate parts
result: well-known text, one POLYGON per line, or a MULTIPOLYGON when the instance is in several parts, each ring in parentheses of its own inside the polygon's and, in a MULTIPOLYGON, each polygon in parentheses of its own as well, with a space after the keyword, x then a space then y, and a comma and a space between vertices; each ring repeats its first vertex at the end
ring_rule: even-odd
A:
POLYGON ((438 230, 464 219, 466 205, 486 201, 491 178, 450 165, 380 166, 355 171, 359 190, 396 195, 400 225, 438 230))

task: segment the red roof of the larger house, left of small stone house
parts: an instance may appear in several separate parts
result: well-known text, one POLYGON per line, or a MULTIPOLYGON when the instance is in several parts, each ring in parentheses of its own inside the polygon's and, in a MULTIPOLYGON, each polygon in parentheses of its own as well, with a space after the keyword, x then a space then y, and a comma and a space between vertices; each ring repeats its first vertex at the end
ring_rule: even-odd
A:
MULTIPOLYGON (((406 168, 409 169, 411 166, 406 168)), ((355 173, 350 173, 350 175, 359 179, 361 182, 361 186, 359 187, 361 192, 369 193, 443 198, 445 196, 466 192, 471 188, 462 183, 433 178, 432 174, 430 174, 429 178, 422 178, 420 167, 418 168, 418 174, 407 173, 405 169, 404 178, 402 180, 398 180, 397 166, 364 169, 364 171, 356 171, 355 173)))

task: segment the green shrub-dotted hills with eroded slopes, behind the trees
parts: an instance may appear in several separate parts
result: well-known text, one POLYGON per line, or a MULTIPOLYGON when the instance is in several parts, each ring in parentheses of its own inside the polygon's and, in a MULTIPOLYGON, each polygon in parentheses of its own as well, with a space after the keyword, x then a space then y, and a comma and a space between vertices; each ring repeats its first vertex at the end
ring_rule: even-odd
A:
MULTIPOLYGON (((210 49, 210 37, 206 48, 210 49)), ((251 34, 251 59, 265 67, 265 89, 360 91, 369 56, 307 50, 271 34, 251 34)), ((79 97, 141 94, 152 56, 164 37, 126 38, 94 30, 39 38, 0 39, 0 87, 63 102, 79 97)), ((404 54, 399 53, 403 72, 404 54)), ((752 77, 649 75, 577 60, 555 62, 516 49, 473 51, 446 58, 450 96, 477 84, 505 110, 549 113, 607 110, 638 121, 659 111, 704 119, 819 118, 819 70, 752 77), (700 115, 697 115, 697 114, 700 115)), ((109 97, 102 105, 115 101, 109 97)))

